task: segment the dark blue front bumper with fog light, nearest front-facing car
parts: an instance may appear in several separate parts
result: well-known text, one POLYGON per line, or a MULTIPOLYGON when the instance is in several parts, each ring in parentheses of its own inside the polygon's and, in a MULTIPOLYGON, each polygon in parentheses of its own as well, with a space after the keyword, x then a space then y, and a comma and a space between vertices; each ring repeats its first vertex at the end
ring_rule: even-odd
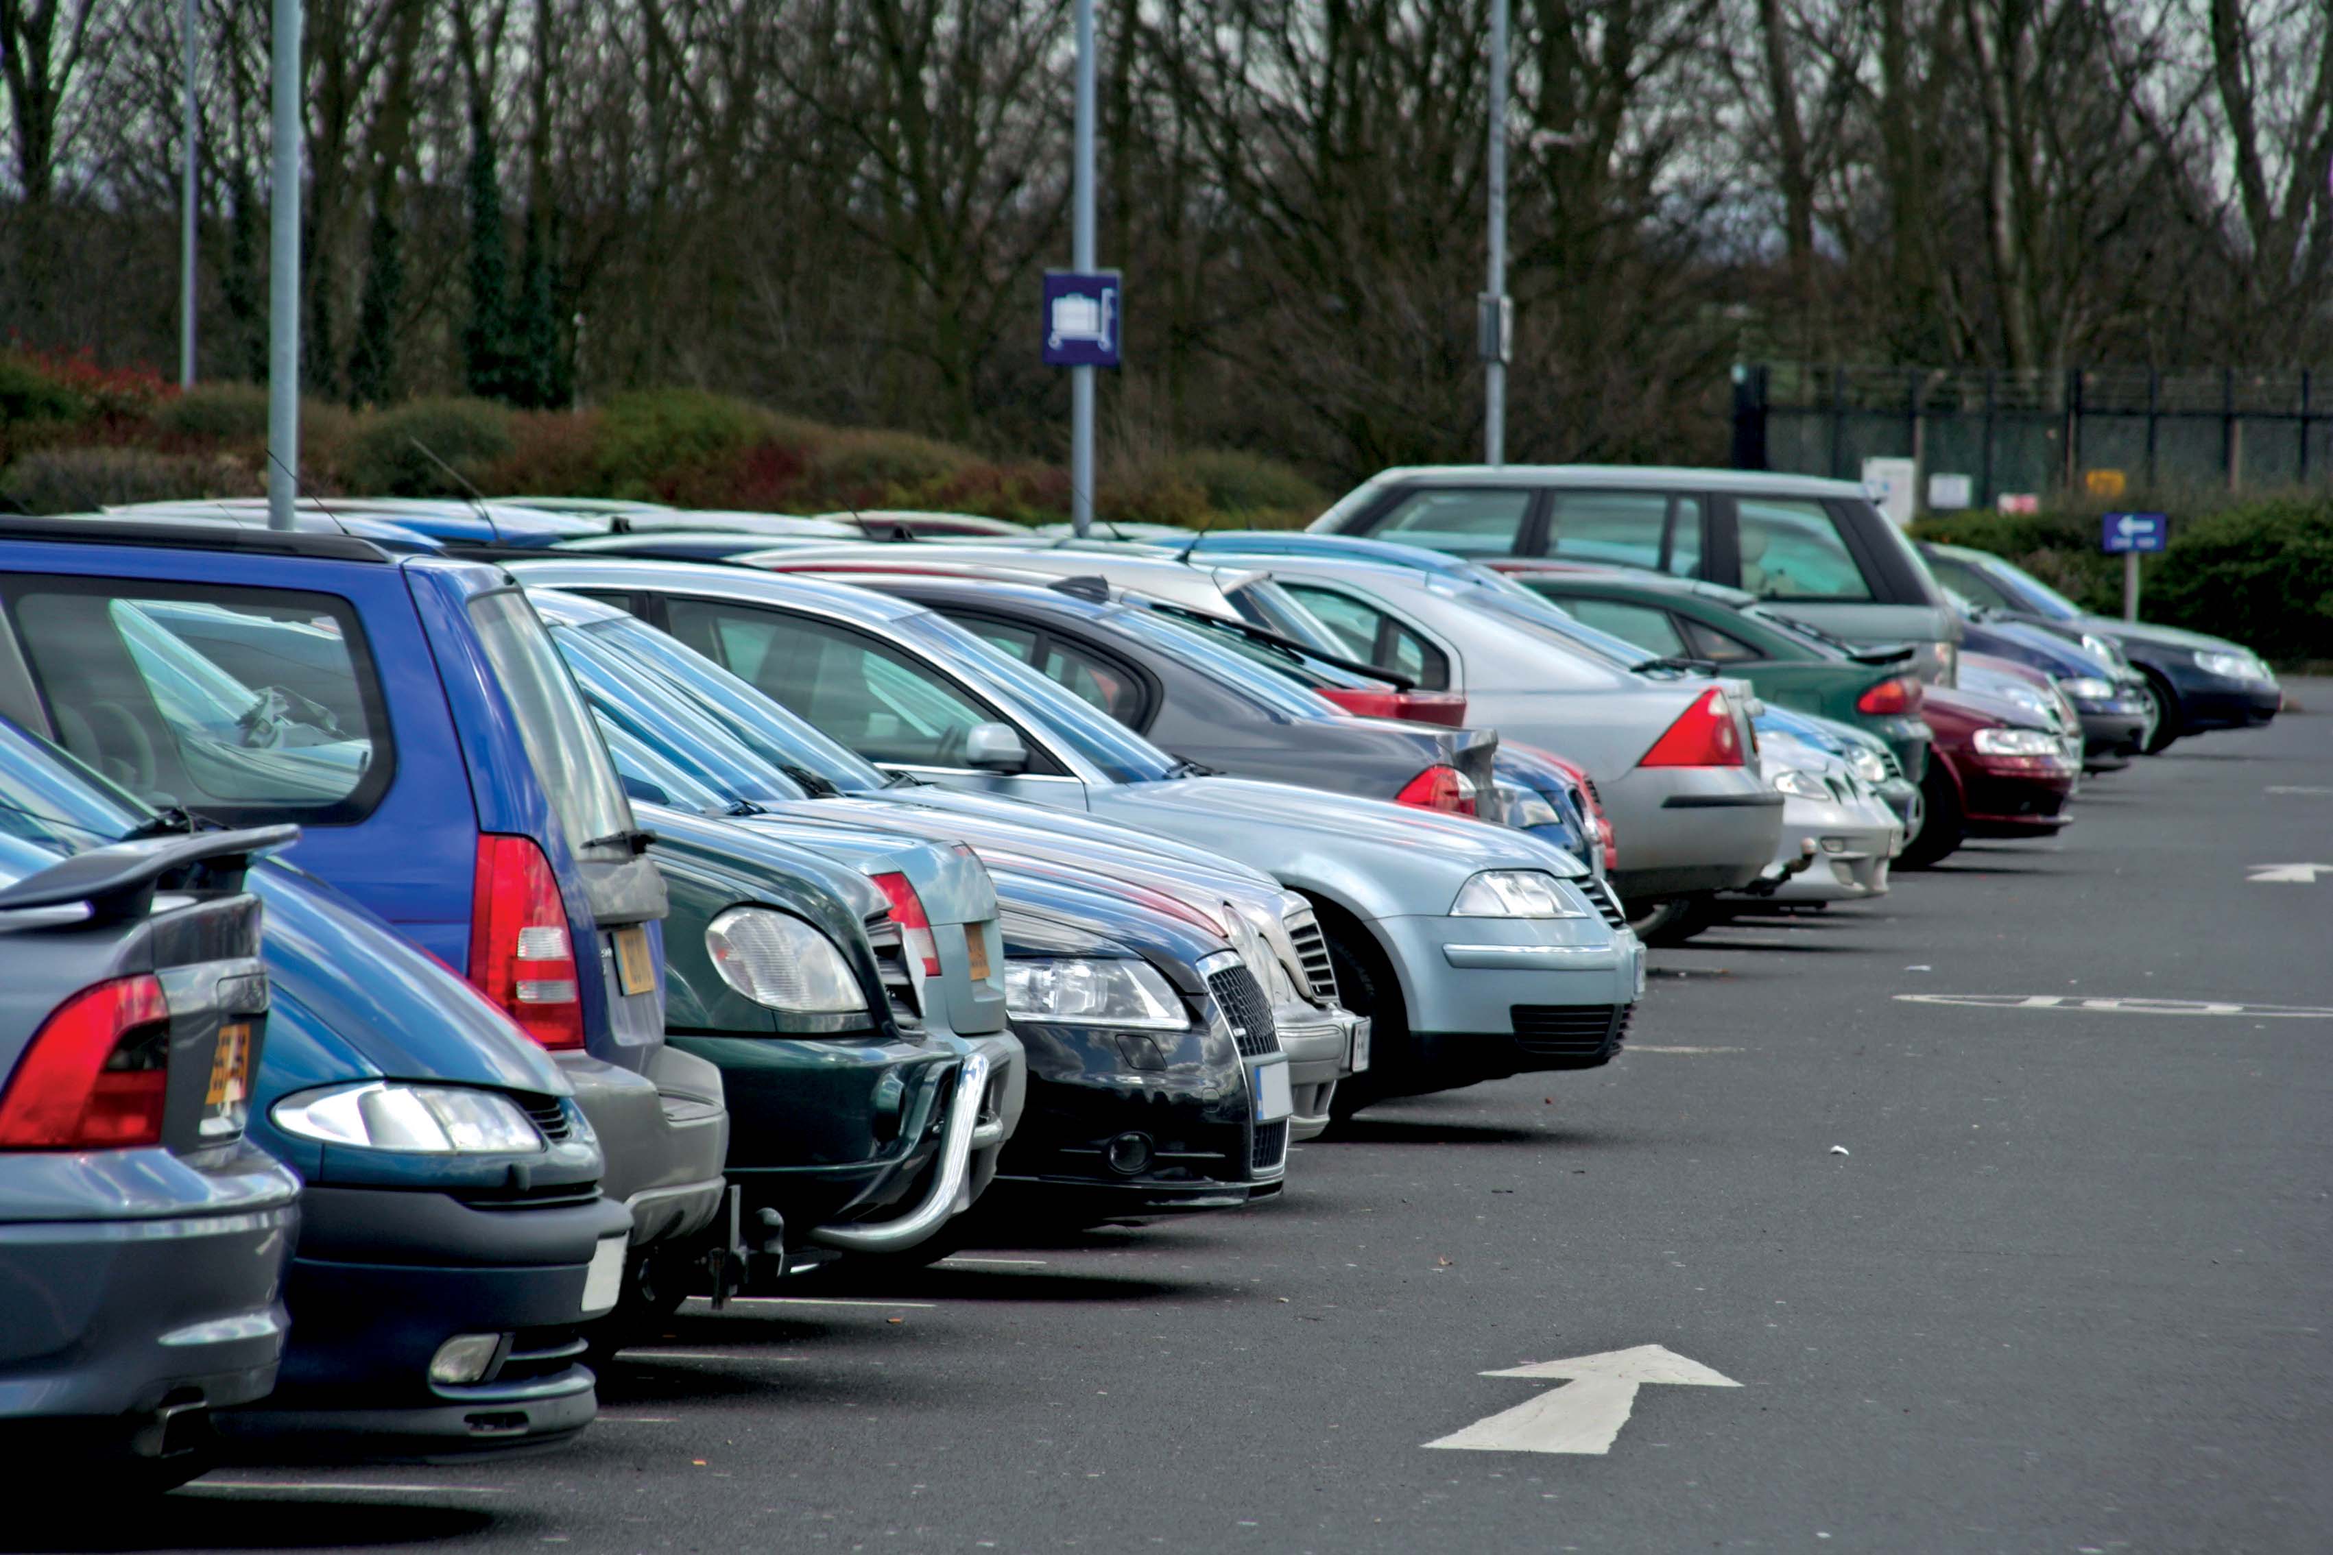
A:
POLYGON ((236 1457, 478 1457, 590 1422, 579 1329, 604 1313, 586 1308, 593 1257, 632 1236, 621 1203, 553 1191, 483 1210, 455 1194, 310 1184, 301 1210, 275 1392, 217 1417, 236 1457), (478 1382, 429 1380, 457 1334, 506 1341, 478 1382))

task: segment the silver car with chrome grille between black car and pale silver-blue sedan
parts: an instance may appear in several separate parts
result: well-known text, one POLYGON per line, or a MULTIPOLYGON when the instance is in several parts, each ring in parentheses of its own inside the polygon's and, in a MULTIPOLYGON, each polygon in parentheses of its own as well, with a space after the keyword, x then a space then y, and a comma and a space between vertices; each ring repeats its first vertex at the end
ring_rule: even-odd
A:
POLYGON ((1104 907, 1085 907, 1087 916, 1108 916, 1113 898, 1136 898, 1197 919, 1253 956, 1250 968, 1271 1000, 1278 1051, 1288 1054, 1299 1140, 1327 1124, 1337 1082, 1353 1072, 1355 1056, 1365 1068, 1367 1023, 1337 1005, 1311 905, 1281 891, 1269 874, 1087 816, 901 786, 644 620, 558 590, 534 597, 558 622, 553 632, 595 702, 618 765, 653 767, 658 783, 702 786, 705 804, 726 804, 733 818, 803 837, 810 846, 831 846, 819 839, 863 828, 971 844, 982 860, 1015 870, 1001 886, 1006 902, 1022 877, 1043 872, 1050 881, 1099 893, 1104 907))

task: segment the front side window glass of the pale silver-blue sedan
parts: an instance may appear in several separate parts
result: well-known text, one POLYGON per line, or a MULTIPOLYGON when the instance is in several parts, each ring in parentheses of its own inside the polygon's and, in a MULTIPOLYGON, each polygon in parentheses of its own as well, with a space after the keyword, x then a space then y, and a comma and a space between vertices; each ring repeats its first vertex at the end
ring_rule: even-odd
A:
POLYGON ((873 762, 964 765, 994 713, 924 662, 852 627, 714 599, 670 599, 672 634, 873 762))

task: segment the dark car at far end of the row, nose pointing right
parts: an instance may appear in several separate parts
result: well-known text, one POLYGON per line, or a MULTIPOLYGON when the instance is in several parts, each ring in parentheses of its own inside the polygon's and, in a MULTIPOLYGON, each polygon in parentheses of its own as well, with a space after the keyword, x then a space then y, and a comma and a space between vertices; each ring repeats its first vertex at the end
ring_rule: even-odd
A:
POLYGON ((2144 746, 2149 755, 2181 734, 2258 727, 2284 706, 2275 671, 2242 643, 2095 615, 2023 567, 1983 550, 1920 546, 1920 555, 1955 594, 2079 641, 2093 655, 2118 653, 2128 660, 2146 678, 2158 709, 2144 746))

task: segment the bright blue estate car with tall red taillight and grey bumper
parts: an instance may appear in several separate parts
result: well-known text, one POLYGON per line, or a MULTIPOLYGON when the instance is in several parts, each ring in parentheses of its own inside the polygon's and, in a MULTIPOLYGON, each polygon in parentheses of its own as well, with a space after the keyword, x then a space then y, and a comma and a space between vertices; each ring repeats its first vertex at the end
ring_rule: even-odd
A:
POLYGON ((338 534, 0 520, 0 713, 156 809, 287 853, 467 974, 567 1072, 651 1247, 721 1236, 721 1072, 665 1047, 623 786, 488 564, 338 534))

